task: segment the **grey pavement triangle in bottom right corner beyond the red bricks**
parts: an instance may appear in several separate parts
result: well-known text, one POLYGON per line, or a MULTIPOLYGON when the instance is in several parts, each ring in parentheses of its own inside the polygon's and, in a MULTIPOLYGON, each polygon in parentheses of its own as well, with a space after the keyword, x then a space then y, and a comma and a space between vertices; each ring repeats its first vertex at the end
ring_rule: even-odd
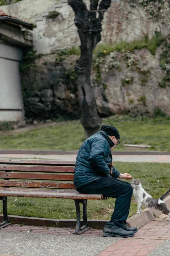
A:
POLYGON ((161 245, 153 249, 147 256, 170 256, 170 240, 165 240, 161 245))

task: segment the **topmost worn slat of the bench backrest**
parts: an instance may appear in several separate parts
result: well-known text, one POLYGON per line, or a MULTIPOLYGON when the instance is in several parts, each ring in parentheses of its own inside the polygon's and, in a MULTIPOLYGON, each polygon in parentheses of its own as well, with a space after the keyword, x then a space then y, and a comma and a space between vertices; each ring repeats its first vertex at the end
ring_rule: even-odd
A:
POLYGON ((38 160, 38 159, 3 159, 3 158, 0 158, 0 164, 75 166, 75 163, 76 163, 75 161, 38 160))

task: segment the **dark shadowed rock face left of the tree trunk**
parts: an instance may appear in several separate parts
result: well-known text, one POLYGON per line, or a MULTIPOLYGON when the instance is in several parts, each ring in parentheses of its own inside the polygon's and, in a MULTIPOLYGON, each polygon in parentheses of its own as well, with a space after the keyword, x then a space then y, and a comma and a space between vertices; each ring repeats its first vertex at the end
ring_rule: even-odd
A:
MULTIPOLYGON (((69 58, 62 66, 55 59, 55 54, 39 57, 21 76, 27 118, 49 119, 60 115, 79 118, 81 115, 77 82, 71 76, 74 66, 69 63, 69 58)), ((74 59, 73 56, 71 61, 74 59)))

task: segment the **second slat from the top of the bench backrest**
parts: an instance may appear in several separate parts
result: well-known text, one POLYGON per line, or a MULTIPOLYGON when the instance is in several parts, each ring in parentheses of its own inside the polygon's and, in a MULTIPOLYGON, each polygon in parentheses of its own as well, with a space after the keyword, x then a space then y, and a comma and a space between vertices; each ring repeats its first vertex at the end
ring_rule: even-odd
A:
POLYGON ((16 172, 69 172, 74 173, 72 166, 38 166, 38 165, 15 165, 0 164, 0 171, 16 171, 16 172))

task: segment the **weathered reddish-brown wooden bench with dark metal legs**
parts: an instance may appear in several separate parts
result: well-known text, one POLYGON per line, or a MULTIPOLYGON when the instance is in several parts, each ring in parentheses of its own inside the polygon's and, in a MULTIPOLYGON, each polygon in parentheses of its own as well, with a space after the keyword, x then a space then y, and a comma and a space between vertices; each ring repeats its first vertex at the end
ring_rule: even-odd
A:
POLYGON ((0 159, 0 200, 3 201, 4 215, 0 228, 10 225, 7 215, 7 196, 21 196, 73 199, 77 214, 75 234, 88 230, 87 199, 101 200, 108 197, 79 194, 73 183, 74 167, 75 161, 0 159), (80 227, 80 203, 83 204, 82 227, 80 227))

